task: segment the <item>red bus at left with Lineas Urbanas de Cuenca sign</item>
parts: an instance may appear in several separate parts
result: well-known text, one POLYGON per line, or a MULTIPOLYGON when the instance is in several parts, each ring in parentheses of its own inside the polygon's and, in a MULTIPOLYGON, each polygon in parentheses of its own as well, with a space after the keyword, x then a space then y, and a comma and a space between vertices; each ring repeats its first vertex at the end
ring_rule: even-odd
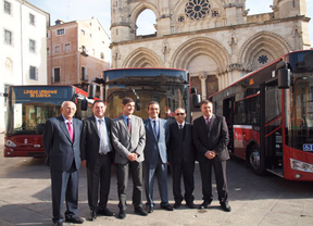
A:
POLYGON ((11 86, 7 99, 4 156, 45 156, 46 121, 61 115, 61 103, 76 103, 76 118, 92 114, 87 92, 74 86, 11 86), (89 108, 88 108, 88 106, 89 108))

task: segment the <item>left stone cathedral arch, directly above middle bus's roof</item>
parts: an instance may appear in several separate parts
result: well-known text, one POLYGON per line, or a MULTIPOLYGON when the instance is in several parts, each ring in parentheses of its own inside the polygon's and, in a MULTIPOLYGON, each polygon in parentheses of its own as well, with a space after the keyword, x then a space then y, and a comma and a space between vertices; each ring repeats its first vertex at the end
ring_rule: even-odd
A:
POLYGON ((147 48, 138 48, 129 53, 122 67, 162 67, 162 60, 147 48))

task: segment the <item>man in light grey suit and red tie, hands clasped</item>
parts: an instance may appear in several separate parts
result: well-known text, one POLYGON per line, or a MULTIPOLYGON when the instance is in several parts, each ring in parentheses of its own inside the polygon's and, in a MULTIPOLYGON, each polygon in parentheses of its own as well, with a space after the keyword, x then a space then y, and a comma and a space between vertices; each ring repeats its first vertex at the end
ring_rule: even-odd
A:
POLYGON ((147 216, 142 209, 142 161, 146 143, 146 133, 142 120, 133 115, 135 102, 132 98, 124 98, 122 102, 123 114, 113 121, 112 145, 116 151, 116 176, 118 193, 118 218, 126 217, 126 190, 128 172, 133 176, 133 205, 135 213, 147 216))

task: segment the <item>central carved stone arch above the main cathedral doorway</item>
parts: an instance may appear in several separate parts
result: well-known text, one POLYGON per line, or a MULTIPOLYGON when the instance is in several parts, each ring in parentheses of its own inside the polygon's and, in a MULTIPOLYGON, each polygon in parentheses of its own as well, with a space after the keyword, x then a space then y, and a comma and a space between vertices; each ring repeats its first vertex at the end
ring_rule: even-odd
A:
POLYGON ((200 54, 208 55, 216 62, 217 73, 224 73, 229 64, 227 50, 211 38, 192 38, 183 43, 173 54, 172 66, 176 68, 187 68, 189 62, 200 54))

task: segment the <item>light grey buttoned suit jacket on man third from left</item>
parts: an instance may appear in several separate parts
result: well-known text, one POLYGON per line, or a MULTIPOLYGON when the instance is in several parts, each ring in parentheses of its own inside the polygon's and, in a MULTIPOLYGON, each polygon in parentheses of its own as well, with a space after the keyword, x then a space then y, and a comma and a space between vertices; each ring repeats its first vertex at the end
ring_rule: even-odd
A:
POLYGON ((116 117, 112 124, 112 145, 115 149, 115 163, 126 164, 129 153, 138 153, 137 162, 142 162, 146 143, 146 131, 142 120, 132 115, 132 134, 123 115, 116 117))

